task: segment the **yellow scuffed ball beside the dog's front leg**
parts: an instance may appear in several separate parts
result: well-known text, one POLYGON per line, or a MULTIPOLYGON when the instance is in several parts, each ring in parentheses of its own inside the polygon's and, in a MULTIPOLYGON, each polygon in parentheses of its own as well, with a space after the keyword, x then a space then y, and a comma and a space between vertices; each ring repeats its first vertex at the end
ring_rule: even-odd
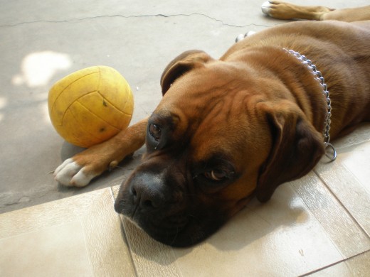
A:
POLYGON ((51 122, 60 136, 80 147, 90 147, 126 129, 134 99, 117 70, 93 66, 56 82, 48 94, 51 122))

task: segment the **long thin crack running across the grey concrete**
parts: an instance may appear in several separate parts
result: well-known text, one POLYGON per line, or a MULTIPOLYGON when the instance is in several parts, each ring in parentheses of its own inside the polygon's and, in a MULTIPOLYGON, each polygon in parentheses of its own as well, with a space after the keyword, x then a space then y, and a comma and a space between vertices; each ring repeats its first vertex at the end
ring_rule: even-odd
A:
POLYGON ((208 16, 203 13, 178 13, 178 14, 171 14, 171 15, 166 15, 162 13, 158 14, 147 14, 147 15, 138 15, 138 16, 122 16, 120 14, 115 14, 115 15, 104 15, 104 16, 88 16, 84 18, 72 18, 69 20, 63 20, 63 21, 48 21, 48 20, 40 20, 40 21, 25 21, 25 22, 19 22, 19 23, 14 23, 14 24, 9 24, 9 25, 0 25, 2 28, 6 27, 15 27, 15 26, 21 26, 25 24, 33 24, 33 23, 73 23, 75 21, 85 21, 85 20, 90 20, 90 19, 96 19, 96 18, 110 18, 110 17, 121 17, 121 18, 140 18, 140 17, 165 17, 165 18, 170 18, 170 17, 176 17, 176 16, 204 16, 206 18, 211 19, 212 21, 218 21, 222 23, 223 26, 230 26, 230 27, 235 27, 235 28, 245 28, 248 26, 261 26, 261 27, 270 27, 270 26, 265 26, 262 24, 255 24, 255 23, 250 23, 250 24, 245 24, 245 25, 233 25, 230 23, 226 23, 222 21, 221 19, 218 18, 213 18, 211 16, 208 16))

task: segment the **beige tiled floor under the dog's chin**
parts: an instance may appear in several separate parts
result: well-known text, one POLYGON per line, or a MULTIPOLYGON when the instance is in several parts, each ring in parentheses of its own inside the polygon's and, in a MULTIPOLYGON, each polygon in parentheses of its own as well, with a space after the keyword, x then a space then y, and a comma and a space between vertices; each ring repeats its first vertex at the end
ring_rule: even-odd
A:
POLYGON ((115 214, 118 186, 0 214, 0 276, 370 276, 369 137, 188 249, 115 214))

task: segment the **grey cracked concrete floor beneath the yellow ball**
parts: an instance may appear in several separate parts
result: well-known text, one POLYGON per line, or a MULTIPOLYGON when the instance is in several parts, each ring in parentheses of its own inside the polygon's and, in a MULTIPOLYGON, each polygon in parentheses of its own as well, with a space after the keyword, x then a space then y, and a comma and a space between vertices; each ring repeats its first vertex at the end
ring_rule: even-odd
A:
POLYGON ((136 122, 159 102, 159 77, 176 55, 201 49, 217 58, 239 33, 283 23, 263 16, 261 2, 1 0, 0 213, 119 185, 139 163, 142 151, 86 188, 58 185, 50 172, 81 148, 63 141, 48 118, 54 82, 84 67, 114 67, 132 87, 136 122))

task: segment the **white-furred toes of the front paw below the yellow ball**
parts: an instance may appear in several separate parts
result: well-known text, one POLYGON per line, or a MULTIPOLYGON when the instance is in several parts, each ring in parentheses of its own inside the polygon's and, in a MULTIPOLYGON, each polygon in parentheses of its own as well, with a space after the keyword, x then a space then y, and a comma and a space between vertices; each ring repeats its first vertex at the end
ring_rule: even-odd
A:
POLYGON ((85 187, 96 175, 84 173, 84 168, 78 165, 73 158, 68 158, 54 171, 54 178, 68 187, 85 187))

